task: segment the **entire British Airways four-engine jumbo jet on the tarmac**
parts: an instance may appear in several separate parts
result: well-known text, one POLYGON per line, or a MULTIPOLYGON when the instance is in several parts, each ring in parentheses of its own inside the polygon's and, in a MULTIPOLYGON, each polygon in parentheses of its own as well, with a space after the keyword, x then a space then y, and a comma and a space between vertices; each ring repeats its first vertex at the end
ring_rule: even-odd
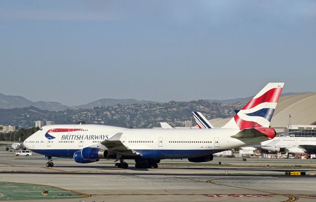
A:
POLYGON ((52 157, 73 158, 78 163, 100 159, 135 160, 136 168, 157 168, 162 159, 208 162, 213 154, 273 139, 269 127, 284 83, 268 83, 222 128, 130 129, 107 125, 46 125, 24 141, 29 150, 52 157))

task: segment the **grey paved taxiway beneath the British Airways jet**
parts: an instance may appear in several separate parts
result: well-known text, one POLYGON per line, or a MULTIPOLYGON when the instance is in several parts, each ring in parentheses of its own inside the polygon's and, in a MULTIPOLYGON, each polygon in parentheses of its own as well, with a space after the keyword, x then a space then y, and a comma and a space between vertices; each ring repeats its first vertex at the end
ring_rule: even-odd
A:
MULTIPOLYGON (((135 169, 130 162, 130 169, 119 169, 113 167, 113 161, 82 165, 71 160, 55 159, 56 167, 46 168, 46 160, 39 155, 15 157, 1 149, 0 157, 0 181, 27 183, 26 186, 31 188, 43 185, 48 191, 59 188, 68 193, 63 199, 56 200, 56 190, 50 192, 54 196, 42 196, 40 190, 33 189, 36 191, 32 191, 34 198, 29 198, 30 202, 316 201, 316 169, 313 166, 295 169, 295 165, 300 162, 296 160, 286 161, 293 165, 290 170, 304 170, 307 176, 285 176, 284 171, 289 170, 288 168, 206 164, 190 166, 183 163, 185 160, 172 162, 172 165, 168 165, 169 161, 162 161, 163 165, 158 169, 135 169), (179 166, 173 163, 178 163, 179 166)), ((214 159, 216 162, 218 160, 224 164, 225 161, 241 162, 234 159, 214 159)), ((247 162, 251 161, 253 160, 247 159, 247 162)), ((308 162, 316 164, 313 160, 305 161, 308 162)), ((0 200, 6 200, 5 196, 0 197, 0 200)), ((16 202, 22 201, 25 200, 16 202)))

